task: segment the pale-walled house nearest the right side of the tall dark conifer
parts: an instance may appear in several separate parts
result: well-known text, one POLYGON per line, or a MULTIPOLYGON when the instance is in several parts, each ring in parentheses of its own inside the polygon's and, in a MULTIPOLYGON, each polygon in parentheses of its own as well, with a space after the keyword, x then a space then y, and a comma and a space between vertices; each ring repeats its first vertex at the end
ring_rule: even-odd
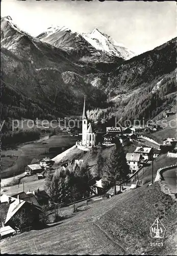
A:
POLYGON ((140 168, 142 156, 138 153, 127 153, 127 164, 131 169, 131 173, 135 173, 140 168))

